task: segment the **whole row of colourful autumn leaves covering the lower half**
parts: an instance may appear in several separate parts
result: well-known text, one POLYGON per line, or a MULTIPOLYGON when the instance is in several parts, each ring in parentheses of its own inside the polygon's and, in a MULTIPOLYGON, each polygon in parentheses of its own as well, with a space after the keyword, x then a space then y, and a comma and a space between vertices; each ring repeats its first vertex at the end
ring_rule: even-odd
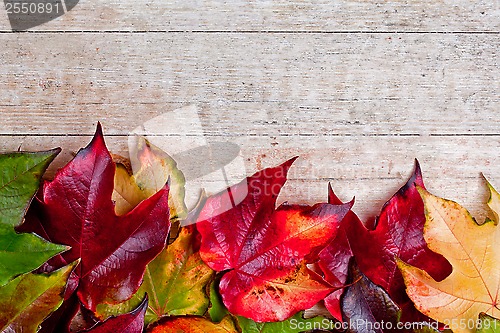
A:
POLYGON ((328 203, 276 208, 291 159, 188 214, 182 173, 145 140, 132 174, 98 126, 39 190, 58 152, 0 156, 2 332, 300 332, 339 322, 395 331, 435 321, 466 332, 500 316, 500 196, 489 184, 496 219, 479 225, 428 193, 417 164, 363 224, 331 188, 328 203))

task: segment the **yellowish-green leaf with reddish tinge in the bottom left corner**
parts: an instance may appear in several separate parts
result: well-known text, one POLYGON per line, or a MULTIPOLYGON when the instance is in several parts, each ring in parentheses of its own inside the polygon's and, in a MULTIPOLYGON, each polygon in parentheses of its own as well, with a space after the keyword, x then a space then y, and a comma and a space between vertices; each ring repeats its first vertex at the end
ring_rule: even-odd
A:
POLYGON ((28 273, 0 287, 0 331, 36 332, 63 302, 66 281, 76 262, 50 275, 28 273))

